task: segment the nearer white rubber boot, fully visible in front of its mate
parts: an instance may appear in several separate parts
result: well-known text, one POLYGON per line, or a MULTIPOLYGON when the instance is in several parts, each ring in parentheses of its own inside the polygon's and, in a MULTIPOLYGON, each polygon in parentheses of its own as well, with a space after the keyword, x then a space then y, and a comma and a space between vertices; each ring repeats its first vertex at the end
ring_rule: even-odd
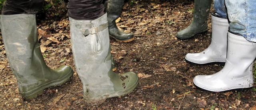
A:
POLYGON ((213 75, 199 75, 194 84, 202 89, 221 92, 253 86, 252 68, 256 43, 228 32, 228 52, 224 68, 213 75))

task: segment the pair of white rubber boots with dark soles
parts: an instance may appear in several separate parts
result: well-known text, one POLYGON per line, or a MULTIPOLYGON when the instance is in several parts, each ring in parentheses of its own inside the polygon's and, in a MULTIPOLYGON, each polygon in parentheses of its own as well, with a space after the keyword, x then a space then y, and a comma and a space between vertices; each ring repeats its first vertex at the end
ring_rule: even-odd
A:
POLYGON ((212 41, 200 53, 188 53, 186 61, 196 64, 225 63, 224 68, 213 75, 198 75, 194 84, 199 88, 221 92, 253 86, 253 62, 256 43, 228 31, 226 18, 212 14, 212 41))

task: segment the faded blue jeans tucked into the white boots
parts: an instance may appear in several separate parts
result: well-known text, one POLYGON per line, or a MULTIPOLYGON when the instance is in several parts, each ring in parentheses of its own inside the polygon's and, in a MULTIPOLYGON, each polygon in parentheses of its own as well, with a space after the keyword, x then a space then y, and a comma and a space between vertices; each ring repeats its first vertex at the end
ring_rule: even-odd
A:
POLYGON ((222 17, 228 14, 231 32, 256 42, 256 0, 214 0, 214 9, 222 17))

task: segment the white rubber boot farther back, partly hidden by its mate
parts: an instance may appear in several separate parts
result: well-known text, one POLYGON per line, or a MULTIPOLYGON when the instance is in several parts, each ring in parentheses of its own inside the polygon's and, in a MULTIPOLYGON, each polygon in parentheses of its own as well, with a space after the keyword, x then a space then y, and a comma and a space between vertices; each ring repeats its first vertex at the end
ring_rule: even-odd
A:
POLYGON ((212 14, 212 41, 207 49, 200 53, 188 53, 186 61, 195 64, 224 65, 227 53, 228 19, 212 14))

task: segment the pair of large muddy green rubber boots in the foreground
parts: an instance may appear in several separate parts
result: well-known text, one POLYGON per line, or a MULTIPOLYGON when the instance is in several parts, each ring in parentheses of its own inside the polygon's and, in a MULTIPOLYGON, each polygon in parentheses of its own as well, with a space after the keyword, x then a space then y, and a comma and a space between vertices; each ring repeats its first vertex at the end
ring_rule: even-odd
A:
MULTIPOLYGON (((35 15, 2 15, 1 25, 6 55, 22 97, 33 99, 45 88, 63 84, 72 77, 70 66, 52 70, 45 64, 38 43, 35 15)), ((112 71, 107 14, 96 20, 70 18, 70 33, 76 70, 83 83, 86 101, 96 104, 135 89, 138 84, 135 73, 118 75, 112 71), (93 29, 98 32, 88 33, 93 29)))

